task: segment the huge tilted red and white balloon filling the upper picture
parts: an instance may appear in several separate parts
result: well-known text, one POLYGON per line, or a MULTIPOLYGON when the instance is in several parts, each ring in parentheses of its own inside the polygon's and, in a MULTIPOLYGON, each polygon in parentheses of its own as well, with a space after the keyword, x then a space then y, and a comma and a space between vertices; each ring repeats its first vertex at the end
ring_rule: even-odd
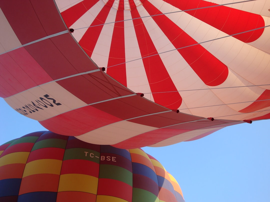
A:
POLYGON ((0 96, 118 148, 269 119, 268 2, 1 1, 0 96))

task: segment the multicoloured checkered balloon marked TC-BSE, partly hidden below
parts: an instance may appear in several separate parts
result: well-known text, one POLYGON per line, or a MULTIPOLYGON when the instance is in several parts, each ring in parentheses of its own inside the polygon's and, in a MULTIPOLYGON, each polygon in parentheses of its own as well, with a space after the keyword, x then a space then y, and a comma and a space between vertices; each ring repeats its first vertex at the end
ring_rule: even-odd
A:
POLYGON ((141 149, 39 131, 0 146, 1 202, 183 202, 176 180, 141 149))

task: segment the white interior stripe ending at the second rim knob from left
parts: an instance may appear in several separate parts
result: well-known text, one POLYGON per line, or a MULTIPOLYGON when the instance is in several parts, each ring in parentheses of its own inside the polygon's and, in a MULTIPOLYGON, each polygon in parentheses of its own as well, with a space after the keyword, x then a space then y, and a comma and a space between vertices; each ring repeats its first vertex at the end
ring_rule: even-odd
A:
MULTIPOLYGON (((109 15, 105 21, 106 23, 114 22, 116 18, 116 10, 111 8, 109 15)), ((104 25, 99 38, 97 40, 96 46, 93 50, 93 54, 91 59, 97 64, 99 67, 107 67, 110 47, 112 43, 112 35, 113 35, 114 23, 104 25)))

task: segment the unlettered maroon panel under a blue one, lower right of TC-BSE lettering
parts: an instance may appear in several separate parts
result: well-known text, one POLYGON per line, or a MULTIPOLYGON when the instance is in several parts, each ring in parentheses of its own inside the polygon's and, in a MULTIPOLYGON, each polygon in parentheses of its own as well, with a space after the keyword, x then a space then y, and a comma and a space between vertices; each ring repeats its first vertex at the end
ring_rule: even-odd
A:
POLYGON ((154 180, 143 175, 133 173, 133 187, 149 191, 156 196, 159 194, 158 184, 154 180))

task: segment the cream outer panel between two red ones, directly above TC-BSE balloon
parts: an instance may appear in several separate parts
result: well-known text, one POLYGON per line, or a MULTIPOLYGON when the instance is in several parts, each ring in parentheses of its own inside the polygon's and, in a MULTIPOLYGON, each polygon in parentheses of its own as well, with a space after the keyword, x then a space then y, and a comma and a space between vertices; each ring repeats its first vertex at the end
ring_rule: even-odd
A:
POLYGON ((92 144, 112 145, 155 129, 157 128, 129 121, 119 121, 76 136, 76 138, 92 144))

